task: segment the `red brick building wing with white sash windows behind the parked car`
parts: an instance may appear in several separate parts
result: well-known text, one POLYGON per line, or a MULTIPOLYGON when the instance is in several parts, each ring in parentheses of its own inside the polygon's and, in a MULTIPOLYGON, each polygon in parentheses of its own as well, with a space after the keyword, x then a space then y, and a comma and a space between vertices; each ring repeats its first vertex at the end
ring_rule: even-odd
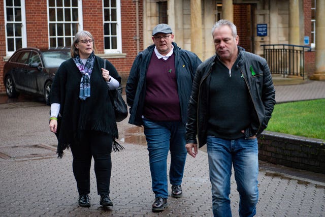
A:
POLYGON ((109 59, 125 81, 142 49, 142 10, 134 0, 1 0, 0 93, 5 61, 16 49, 70 47, 81 29, 93 35, 96 54, 109 59))

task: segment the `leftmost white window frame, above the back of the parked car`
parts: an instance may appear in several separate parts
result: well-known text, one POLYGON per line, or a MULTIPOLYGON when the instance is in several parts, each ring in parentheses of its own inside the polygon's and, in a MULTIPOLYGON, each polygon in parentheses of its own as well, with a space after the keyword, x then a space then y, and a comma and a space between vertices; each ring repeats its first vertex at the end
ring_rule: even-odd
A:
MULTIPOLYGON (((8 0, 4 1, 4 14, 5 14, 5 34, 6 34, 6 55, 7 56, 11 56, 17 49, 16 49, 16 45, 14 45, 15 50, 14 51, 8 51, 8 36, 7 36, 7 23, 16 23, 16 22, 7 22, 7 3, 8 0)), ((10 0, 12 1, 12 0, 10 0)), ((26 32, 26 11, 25 11, 25 1, 20 0, 20 5, 21 5, 21 47, 27 47, 27 32, 26 32)), ((13 6, 14 7, 14 6, 13 6)), ((14 37, 10 37, 10 38, 15 38, 14 37)))

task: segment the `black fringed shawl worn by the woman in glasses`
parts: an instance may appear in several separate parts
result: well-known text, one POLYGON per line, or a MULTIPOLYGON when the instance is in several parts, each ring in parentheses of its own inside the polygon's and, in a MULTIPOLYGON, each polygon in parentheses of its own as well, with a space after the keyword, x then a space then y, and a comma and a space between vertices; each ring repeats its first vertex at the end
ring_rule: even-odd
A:
MULTIPOLYGON (((113 136, 113 150, 120 149, 115 141, 118 130, 114 109, 108 94, 108 85, 102 77, 104 60, 95 56, 90 77, 90 97, 85 101, 79 99, 81 73, 72 58, 64 61, 58 68, 51 88, 50 104, 60 104, 62 122, 58 132, 58 158, 63 157, 63 150, 78 146, 79 135, 83 130, 101 131, 113 136), (117 145, 117 146, 116 146, 117 145)), ((115 67, 107 61, 106 69, 110 75, 121 83, 115 67)))

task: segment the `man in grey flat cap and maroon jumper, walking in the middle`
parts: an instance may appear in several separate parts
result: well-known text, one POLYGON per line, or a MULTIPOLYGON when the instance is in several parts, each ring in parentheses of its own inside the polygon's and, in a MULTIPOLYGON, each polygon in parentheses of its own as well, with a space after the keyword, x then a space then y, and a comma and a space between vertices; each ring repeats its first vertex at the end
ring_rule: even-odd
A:
POLYGON ((152 211, 168 207, 167 156, 171 152, 171 196, 182 196, 186 160, 185 124, 192 80, 200 58, 177 46, 172 28, 158 24, 152 30, 153 45, 134 60, 126 83, 129 123, 144 127, 149 151, 152 211))

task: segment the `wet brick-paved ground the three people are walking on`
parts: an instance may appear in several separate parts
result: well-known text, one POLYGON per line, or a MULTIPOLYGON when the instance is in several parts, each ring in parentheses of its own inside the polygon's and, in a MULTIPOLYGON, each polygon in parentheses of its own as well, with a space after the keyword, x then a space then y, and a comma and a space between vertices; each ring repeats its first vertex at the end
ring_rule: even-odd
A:
MULTIPOLYGON (((276 101, 325 98, 325 82, 276 86, 276 101), (310 88, 313 91, 309 91, 310 88), (293 94, 295 92, 295 94, 293 94)), ((188 156, 182 198, 169 197, 169 208, 151 212, 154 194, 142 129, 118 123, 125 150, 112 153, 111 198, 104 210, 91 170, 91 207, 77 204, 72 156, 56 159, 56 138, 48 130, 49 107, 36 101, 0 104, 0 216, 212 216, 207 153, 188 156)), ((256 216, 325 216, 325 175, 260 162, 256 216)), ((238 193, 231 179, 233 216, 238 193)), ((170 187, 169 187, 170 188, 170 187)))

